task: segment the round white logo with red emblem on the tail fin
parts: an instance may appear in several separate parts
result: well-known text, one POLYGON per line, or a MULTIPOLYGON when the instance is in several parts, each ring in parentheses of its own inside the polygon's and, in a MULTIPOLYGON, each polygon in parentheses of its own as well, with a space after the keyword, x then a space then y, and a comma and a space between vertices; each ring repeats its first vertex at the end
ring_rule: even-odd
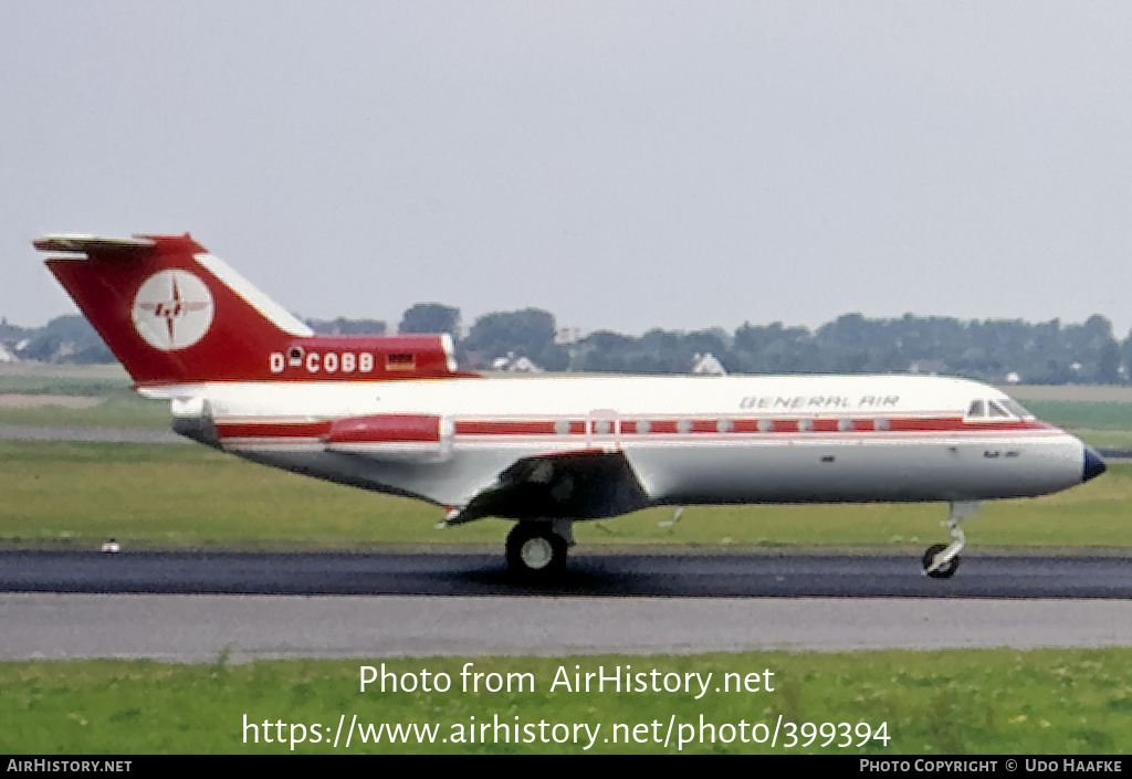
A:
POLYGON ((134 328, 165 352, 188 349, 203 339, 213 314, 212 292, 188 271, 155 273, 134 298, 134 328))

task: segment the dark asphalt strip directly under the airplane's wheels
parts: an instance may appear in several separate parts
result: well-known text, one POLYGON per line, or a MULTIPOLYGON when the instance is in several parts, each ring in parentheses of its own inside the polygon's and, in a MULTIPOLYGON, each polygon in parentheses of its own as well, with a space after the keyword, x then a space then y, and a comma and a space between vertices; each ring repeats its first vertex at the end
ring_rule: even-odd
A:
POLYGON ((571 557, 563 579, 512 577, 499 553, 0 553, 0 592, 826 598, 1132 598, 1132 557, 964 555, 951 580, 916 554, 704 553, 571 557))

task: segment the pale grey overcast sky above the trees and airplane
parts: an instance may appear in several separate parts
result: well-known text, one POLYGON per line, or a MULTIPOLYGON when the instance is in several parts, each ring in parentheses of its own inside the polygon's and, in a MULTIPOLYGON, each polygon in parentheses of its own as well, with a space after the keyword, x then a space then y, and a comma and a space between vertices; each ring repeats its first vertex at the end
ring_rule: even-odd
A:
POLYGON ((305 317, 1132 326, 1132 3, 0 2, 31 241, 190 231, 305 317))

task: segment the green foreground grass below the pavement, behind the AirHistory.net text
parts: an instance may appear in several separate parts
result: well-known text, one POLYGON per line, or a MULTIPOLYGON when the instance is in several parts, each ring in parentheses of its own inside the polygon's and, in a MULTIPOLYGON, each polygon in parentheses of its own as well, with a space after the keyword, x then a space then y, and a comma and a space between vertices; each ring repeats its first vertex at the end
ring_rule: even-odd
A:
MULTIPOLYGON (((1132 650, 978 650, 874 651, 838 654, 758 652, 700 656, 574 657, 574 658, 429 658, 386 660, 386 670, 403 678, 428 670, 432 684, 447 674, 447 692, 381 693, 379 685, 360 692, 360 666, 380 670, 380 660, 258 661, 230 666, 223 658, 211 666, 164 665, 147 661, 82 661, 0 664, 0 752, 23 754, 153 754, 252 753, 291 751, 292 724, 301 724, 306 743, 295 753, 832 753, 871 755, 954 754, 1127 754, 1132 751, 1132 650), (491 693, 463 692, 465 662, 482 674, 530 674, 518 692, 504 687, 491 693), (712 673, 709 690, 692 682, 693 694, 666 692, 568 691, 551 684, 563 667, 607 675, 616 666, 635 673, 712 673), (575 667, 580 666, 580 669, 575 667), (765 671, 773 676, 766 676, 765 671), (715 692, 726 674, 758 673, 757 692, 715 692), (531 687, 533 685, 533 692, 531 687), (765 690, 772 686, 773 692, 765 690), (245 720, 247 716, 247 720, 245 720), (345 747, 345 731, 333 746, 340 717, 346 725, 357 716, 365 725, 387 722, 439 726, 436 743, 362 743, 358 731, 345 747), (581 734, 581 744, 539 743, 540 730, 511 731, 509 743, 454 743, 470 726, 520 726, 544 721, 552 739, 557 724, 586 724, 595 737, 581 734), (777 745, 766 736, 779 717, 798 726, 794 746, 782 726, 777 745), (703 722, 714 726, 701 730, 703 722), (474 718, 474 719, 473 719, 474 718), (272 741, 264 739, 267 720, 272 741), (245 731, 245 722, 258 725, 245 731), (659 729, 652 722, 660 724, 659 729), (663 738, 675 722, 669 745, 663 738), (746 724, 740 729, 740 722, 746 724), (814 726, 801 729, 805 722, 814 726), (838 728, 820 730, 821 724, 838 728), (855 729, 844 744, 841 722, 855 729), (753 726, 765 724, 766 730, 753 726), (889 741, 868 738, 860 724, 889 741), (884 730, 881 731, 881 725, 884 730), (318 743, 311 726, 318 726, 318 743), (595 726, 601 726, 594 730, 595 726), (623 727, 620 730, 616 726, 623 727), (643 729, 634 730, 635 726, 643 729), (729 726, 730 729, 728 729, 729 726), (835 737, 831 741, 831 730, 835 737), (251 743, 243 743, 245 733, 251 743), (631 734, 649 743, 632 741, 631 734), (743 743, 745 733, 767 743, 743 743), (259 743, 254 738, 259 737, 259 743), (534 743, 515 743, 533 738, 534 743), (616 742, 614 741, 616 737, 616 742), (631 739, 625 743, 626 737, 631 739), (448 738, 447 743, 441 742, 448 738), (609 738, 607 743, 604 739, 609 738), (679 745, 679 739, 687 743, 679 745), (655 741, 653 741, 655 739, 655 741), (691 739, 691 741, 688 741, 691 739), (702 743, 700 743, 702 739, 702 743), (723 743, 724 739, 731 743, 723 743), (592 742, 592 747, 584 748, 592 742), (657 743, 660 742, 660 743, 657 743), (806 742, 809 742, 808 746, 806 742), (823 743, 831 745, 821 746, 823 743)), ((486 684, 488 677, 483 677, 486 684)), ((419 731, 418 731, 419 733, 419 731)), ((503 739, 503 731, 498 731, 503 739)), ((565 730, 557 730, 559 736, 565 730)))

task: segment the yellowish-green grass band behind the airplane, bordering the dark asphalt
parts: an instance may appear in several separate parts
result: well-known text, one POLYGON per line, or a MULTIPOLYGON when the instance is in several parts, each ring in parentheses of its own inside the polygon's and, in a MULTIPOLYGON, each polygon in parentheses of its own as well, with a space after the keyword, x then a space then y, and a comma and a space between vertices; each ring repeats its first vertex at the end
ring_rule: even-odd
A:
MULTIPOLYGON (((0 442, 0 542, 93 548, 335 548, 499 545, 511 522, 443 531, 443 511, 255 465, 204 446, 0 442)), ((984 504, 967 524, 980 546, 1127 547, 1132 465, 1058 495, 984 504)), ((849 545, 945 540, 945 504, 691 507, 578 522, 580 545, 849 545)))

